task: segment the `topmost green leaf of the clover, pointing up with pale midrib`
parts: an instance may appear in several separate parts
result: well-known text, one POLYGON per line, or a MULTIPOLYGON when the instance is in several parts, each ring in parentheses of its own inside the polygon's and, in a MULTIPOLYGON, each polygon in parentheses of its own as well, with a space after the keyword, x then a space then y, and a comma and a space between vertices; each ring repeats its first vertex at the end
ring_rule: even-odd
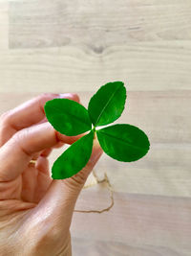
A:
POLYGON ((121 115, 126 100, 123 84, 122 81, 108 82, 91 98, 88 111, 95 127, 108 125, 121 115))

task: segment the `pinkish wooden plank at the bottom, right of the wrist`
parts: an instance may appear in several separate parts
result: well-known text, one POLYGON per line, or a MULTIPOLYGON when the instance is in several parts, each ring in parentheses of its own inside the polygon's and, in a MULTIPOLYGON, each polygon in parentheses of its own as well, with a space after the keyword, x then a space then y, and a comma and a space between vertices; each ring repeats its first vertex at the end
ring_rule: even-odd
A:
MULTIPOLYGON (((106 191, 100 188, 91 190, 82 192, 75 209, 107 206, 106 191)), ((115 205, 110 212, 74 213, 71 230, 74 244, 83 242, 74 245, 75 251, 84 252, 82 255, 85 256, 189 256, 190 216, 190 198, 115 193, 115 205), (87 244, 87 252, 83 244, 87 244)))

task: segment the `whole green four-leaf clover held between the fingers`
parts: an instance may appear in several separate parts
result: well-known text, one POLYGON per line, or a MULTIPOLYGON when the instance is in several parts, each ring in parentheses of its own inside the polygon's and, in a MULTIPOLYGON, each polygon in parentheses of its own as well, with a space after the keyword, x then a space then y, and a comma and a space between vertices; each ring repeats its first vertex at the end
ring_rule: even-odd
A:
POLYGON ((125 101, 124 83, 114 81, 98 89, 88 109, 68 99, 53 99, 45 104, 48 121, 60 133, 74 136, 90 131, 54 161, 53 179, 73 176, 87 164, 93 150, 95 133, 102 150, 118 161, 137 161, 149 151, 148 137, 137 127, 117 124, 96 129, 116 121, 124 110, 125 101))

